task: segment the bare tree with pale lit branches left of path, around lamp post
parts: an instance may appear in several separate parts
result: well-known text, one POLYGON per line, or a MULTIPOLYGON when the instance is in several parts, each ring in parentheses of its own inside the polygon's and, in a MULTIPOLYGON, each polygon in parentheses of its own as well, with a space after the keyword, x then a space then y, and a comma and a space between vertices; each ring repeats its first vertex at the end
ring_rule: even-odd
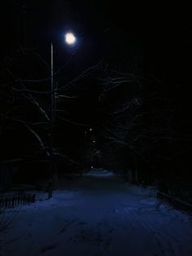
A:
MULTIPOLYGON (((66 111, 63 109, 63 102, 78 98, 72 88, 82 78, 98 68, 99 64, 87 68, 71 81, 65 82, 65 84, 62 83, 62 86, 59 86, 59 77, 62 77, 65 66, 58 68, 54 73, 50 73, 49 63, 39 53, 28 49, 22 50, 18 61, 20 61, 21 67, 24 66, 21 71, 20 68, 15 68, 16 60, 12 60, 11 65, 3 66, 5 73, 9 74, 9 82, 2 84, 4 89, 1 90, 3 98, 1 113, 2 135, 8 124, 11 129, 18 129, 18 126, 20 126, 22 130, 25 130, 24 134, 28 131, 28 135, 30 134, 31 138, 33 138, 31 142, 30 140, 28 141, 28 143, 33 143, 33 150, 29 150, 28 157, 38 155, 40 157, 40 155, 43 155, 47 161, 50 161, 50 172, 55 181, 54 188, 56 188, 58 179, 55 159, 59 157, 71 162, 75 161, 67 156, 62 148, 56 145, 55 126, 57 126, 59 120, 76 126, 87 126, 79 121, 73 121, 65 117, 66 111), (29 65, 27 66, 27 64, 29 65), (36 65, 38 69, 31 70, 33 65, 36 65), (38 72, 39 68, 41 68, 41 73, 38 72), (45 77, 41 77, 41 74, 45 77), (54 85, 50 86, 53 78, 54 85)), ((5 75, 5 77, 7 76, 5 75)), ((25 143, 27 142, 25 141, 25 143)))

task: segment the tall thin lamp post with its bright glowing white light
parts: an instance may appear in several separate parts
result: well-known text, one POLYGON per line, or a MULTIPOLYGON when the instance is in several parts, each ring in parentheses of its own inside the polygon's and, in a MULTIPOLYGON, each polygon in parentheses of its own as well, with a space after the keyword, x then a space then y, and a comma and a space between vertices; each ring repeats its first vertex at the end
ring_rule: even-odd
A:
MULTIPOLYGON (((72 32, 64 34, 65 43, 68 46, 74 46, 76 43, 76 37, 72 32)), ((58 177, 55 170, 54 162, 54 138, 53 138, 53 127, 55 121, 55 79, 54 79, 54 45, 53 42, 50 44, 50 172, 51 172, 51 183, 50 189, 56 188, 58 186, 58 177)), ((50 193, 52 196, 52 192, 50 193)), ((49 196, 49 197, 51 197, 49 196)))

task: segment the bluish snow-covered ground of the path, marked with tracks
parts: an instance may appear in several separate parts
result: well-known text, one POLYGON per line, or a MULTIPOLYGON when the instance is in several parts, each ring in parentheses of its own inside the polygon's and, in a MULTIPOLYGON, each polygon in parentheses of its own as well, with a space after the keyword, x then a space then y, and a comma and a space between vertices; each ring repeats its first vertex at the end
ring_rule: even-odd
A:
POLYGON ((24 205, 0 236, 1 256, 192 255, 190 216, 101 170, 24 205))

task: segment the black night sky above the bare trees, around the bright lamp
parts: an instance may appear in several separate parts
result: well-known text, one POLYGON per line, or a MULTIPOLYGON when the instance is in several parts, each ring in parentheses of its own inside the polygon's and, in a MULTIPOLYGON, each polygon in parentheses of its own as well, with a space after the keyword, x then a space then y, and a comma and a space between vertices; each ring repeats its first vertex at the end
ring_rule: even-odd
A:
POLYGON ((8 0, 1 11, 3 52, 24 42, 26 20, 28 46, 41 46, 47 55, 50 40, 55 42, 59 64, 70 60, 73 70, 104 58, 111 63, 119 60, 125 67, 142 65, 146 72, 161 76, 175 62, 178 67, 183 58, 188 61, 186 55, 191 54, 190 9, 184 5, 8 0), (73 54, 63 45, 63 33, 68 29, 78 38, 73 54))

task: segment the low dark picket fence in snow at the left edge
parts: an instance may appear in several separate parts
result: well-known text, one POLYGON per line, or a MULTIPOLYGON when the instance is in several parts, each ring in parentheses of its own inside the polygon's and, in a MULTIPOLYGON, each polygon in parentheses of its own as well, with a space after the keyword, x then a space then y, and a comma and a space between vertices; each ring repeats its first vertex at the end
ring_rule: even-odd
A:
POLYGON ((29 205, 35 202, 35 194, 22 194, 17 196, 0 197, 1 208, 13 208, 16 205, 29 205))

